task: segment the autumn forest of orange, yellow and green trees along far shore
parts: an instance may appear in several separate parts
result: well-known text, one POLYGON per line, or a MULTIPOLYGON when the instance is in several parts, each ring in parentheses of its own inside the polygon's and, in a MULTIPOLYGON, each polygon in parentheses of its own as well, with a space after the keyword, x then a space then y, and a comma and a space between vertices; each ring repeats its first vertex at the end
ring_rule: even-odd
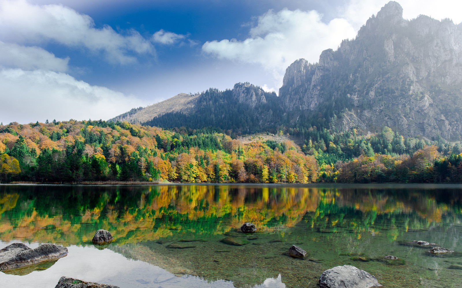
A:
POLYGON ((235 136, 102 120, 14 122, 0 125, 0 182, 462 182, 462 148, 442 138, 405 139, 388 127, 279 129, 235 136))

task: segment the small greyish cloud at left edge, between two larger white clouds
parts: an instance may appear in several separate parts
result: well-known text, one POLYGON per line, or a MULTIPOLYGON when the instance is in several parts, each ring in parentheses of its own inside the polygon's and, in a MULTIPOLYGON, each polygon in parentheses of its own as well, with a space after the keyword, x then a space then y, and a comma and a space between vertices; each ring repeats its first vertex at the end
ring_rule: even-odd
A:
POLYGON ((0 66, 24 70, 67 71, 69 58, 56 58, 53 53, 40 47, 25 47, 0 41, 0 66))

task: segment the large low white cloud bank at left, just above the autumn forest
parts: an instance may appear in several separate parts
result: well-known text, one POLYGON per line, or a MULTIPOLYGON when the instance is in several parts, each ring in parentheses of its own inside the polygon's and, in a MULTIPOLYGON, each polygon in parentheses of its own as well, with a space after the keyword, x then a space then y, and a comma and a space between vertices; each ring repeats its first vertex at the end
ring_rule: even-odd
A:
POLYGON ((0 121, 29 123, 48 119, 109 119, 143 103, 106 87, 91 86, 65 73, 0 71, 0 121))

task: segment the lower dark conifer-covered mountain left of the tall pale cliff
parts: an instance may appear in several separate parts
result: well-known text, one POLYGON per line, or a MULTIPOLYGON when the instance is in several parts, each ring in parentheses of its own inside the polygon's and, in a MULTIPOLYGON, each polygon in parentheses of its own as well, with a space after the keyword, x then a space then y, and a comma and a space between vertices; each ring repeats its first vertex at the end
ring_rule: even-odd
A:
MULTIPOLYGON (((208 89, 196 96, 189 110, 171 110, 145 122, 159 127, 189 127, 193 129, 231 129, 241 133, 275 130, 284 114, 278 96, 265 92, 248 82, 237 83, 232 89, 208 89)), ((164 105, 160 102, 157 105, 164 105)))

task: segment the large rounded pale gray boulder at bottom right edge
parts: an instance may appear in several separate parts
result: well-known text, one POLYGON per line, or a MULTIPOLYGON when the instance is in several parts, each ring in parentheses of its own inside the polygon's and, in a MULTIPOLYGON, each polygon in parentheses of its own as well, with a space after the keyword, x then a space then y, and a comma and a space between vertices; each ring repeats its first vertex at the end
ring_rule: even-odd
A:
POLYGON ((382 286, 377 278, 350 265, 325 270, 319 277, 321 288, 370 288, 382 286))

